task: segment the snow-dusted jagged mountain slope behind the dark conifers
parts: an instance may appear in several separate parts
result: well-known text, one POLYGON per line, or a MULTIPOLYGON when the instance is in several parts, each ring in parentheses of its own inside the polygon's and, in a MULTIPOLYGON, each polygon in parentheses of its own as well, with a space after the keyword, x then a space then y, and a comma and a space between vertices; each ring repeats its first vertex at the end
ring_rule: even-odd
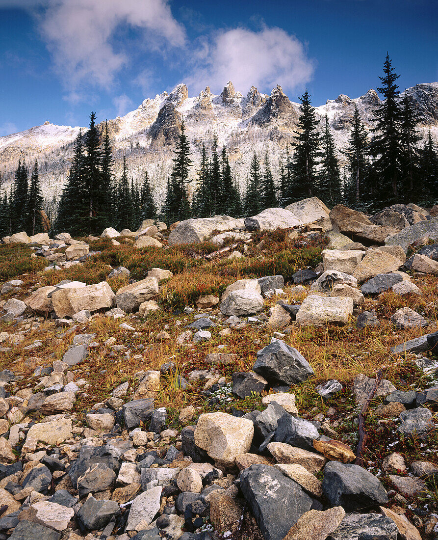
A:
MULTIPOLYGON (((418 84, 407 89, 420 114, 420 127, 438 131, 438 83, 418 84)), ((321 127, 327 114, 339 149, 345 147, 351 130, 354 106, 368 128, 373 127, 373 112, 380 104, 375 90, 351 99, 340 95, 316 107, 321 127)), ((299 104, 290 102, 281 86, 271 95, 259 93, 251 86, 247 95, 236 91, 229 82, 220 95, 210 88, 189 97, 187 86, 177 85, 172 92, 163 92, 145 99, 134 111, 108 120, 114 141, 116 173, 126 154, 134 180, 139 180, 147 167, 156 197, 162 198, 170 171, 172 150, 180 132, 181 120, 193 149, 193 159, 199 159, 202 143, 211 145, 216 134, 220 146, 227 146, 236 180, 242 185, 252 153, 269 156, 274 172, 280 156, 294 137, 299 104)), ((100 125, 101 129, 103 125, 100 125)), ((79 127, 57 126, 45 122, 20 133, 0 137, 0 173, 6 183, 13 179, 19 157, 27 163, 37 158, 48 200, 60 193, 64 184, 79 127)), ((82 128, 83 131, 86 128, 82 128)), ((193 167, 193 177, 195 177, 193 167)))

